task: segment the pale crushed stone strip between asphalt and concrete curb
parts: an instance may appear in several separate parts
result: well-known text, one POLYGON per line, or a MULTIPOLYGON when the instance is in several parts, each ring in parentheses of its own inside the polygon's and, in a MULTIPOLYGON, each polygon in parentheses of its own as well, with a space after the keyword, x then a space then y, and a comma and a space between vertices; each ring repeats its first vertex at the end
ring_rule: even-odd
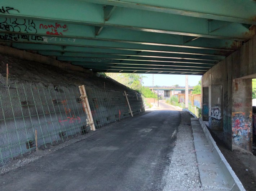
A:
POLYGON ((190 118, 187 111, 181 111, 181 123, 177 128, 177 138, 171 163, 162 178, 164 191, 203 190, 197 166, 190 118))

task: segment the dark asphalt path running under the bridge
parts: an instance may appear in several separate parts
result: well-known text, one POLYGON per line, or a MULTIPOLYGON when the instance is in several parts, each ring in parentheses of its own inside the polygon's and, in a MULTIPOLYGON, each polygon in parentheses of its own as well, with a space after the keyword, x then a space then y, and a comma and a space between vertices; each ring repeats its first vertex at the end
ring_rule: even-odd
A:
POLYGON ((1 175, 0 190, 161 190, 180 112, 159 106, 1 175))

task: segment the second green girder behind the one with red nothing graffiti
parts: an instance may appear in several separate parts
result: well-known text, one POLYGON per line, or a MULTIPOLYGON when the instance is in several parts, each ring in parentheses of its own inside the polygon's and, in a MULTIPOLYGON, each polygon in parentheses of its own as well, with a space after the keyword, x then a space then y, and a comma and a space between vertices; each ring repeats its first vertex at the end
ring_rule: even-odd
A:
MULTIPOLYGON (((59 51, 59 52, 89 52, 89 53, 105 53, 112 55, 136 55, 136 56, 160 56, 172 57, 175 54, 177 57, 192 58, 192 59, 209 59, 209 60, 223 60, 225 59, 224 52, 215 50, 203 50, 193 48, 176 48, 169 47, 169 51, 154 51, 154 50, 139 50, 132 48, 112 48, 112 47, 87 47, 87 46, 71 46, 71 45, 49 45, 49 44, 32 44, 32 43, 17 43, 12 41, 14 48, 23 50, 43 50, 43 51, 59 51), (180 51, 180 52, 178 52, 180 51)), ((226 52, 225 52, 226 53, 226 52)), ((229 52, 231 53, 231 52, 229 52)))

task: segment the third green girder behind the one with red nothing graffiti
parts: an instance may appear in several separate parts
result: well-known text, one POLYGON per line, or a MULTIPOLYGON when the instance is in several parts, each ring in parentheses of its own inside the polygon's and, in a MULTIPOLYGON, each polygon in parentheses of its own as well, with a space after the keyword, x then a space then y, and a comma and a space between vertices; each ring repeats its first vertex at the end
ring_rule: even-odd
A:
POLYGON ((181 57, 178 54, 172 54, 169 57, 166 56, 153 56, 153 54, 147 55, 131 55, 131 54, 110 54, 110 53, 93 53, 93 52, 67 52, 67 51, 40 51, 37 50, 40 55, 44 56, 65 56, 65 57, 87 57, 87 58, 99 58, 99 59, 114 59, 114 60, 153 60, 153 61, 169 61, 170 59, 177 59, 182 61, 199 62, 209 61, 209 63, 216 63, 219 60, 213 59, 200 59, 199 56, 181 57))

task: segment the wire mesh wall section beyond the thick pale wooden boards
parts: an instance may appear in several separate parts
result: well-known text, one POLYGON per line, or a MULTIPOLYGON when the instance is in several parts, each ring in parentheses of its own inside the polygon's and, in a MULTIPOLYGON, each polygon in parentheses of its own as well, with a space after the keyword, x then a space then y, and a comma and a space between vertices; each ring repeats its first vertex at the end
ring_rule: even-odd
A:
POLYGON ((145 111, 141 94, 135 91, 126 91, 127 98, 124 91, 104 88, 87 88, 87 94, 96 128, 145 111))

